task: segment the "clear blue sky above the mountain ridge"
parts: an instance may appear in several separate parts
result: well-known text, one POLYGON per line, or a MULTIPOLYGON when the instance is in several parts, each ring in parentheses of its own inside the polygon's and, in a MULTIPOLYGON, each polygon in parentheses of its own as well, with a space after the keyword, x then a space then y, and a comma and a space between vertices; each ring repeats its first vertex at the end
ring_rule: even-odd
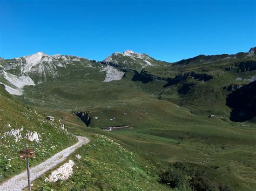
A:
POLYGON ((103 60, 127 49, 167 62, 256 46, 256 0, 0 0, 0 57, 103 60))

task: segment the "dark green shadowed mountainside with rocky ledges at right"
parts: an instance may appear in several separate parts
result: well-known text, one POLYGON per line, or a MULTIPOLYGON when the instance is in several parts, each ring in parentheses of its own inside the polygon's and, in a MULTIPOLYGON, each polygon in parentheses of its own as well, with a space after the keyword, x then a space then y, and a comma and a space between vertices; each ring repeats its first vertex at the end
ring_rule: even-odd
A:
POLYGON ((228 117, 231 110, 226 96, 255 80, 254 49, 232 55, 201 55, 167 67, 146 67, 133 80, 142 81, 146 87, 156 84, 154 91, 157 80, 163 81, 163 88, 158 83, 159 99, 187 107, 195 114, 228 117))

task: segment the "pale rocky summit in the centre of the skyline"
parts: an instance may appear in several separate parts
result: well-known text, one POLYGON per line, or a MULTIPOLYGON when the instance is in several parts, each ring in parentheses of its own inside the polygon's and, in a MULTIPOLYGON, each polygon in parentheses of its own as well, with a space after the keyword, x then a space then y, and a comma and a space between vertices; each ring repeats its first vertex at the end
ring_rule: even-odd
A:
POLYGON ((146 66, 167 66, 170 64, 156 60, 145 53, 137 53, 132 50, 126 50, 123 53, 112 53, 103 62, 137 71, 141 71, 146 66))

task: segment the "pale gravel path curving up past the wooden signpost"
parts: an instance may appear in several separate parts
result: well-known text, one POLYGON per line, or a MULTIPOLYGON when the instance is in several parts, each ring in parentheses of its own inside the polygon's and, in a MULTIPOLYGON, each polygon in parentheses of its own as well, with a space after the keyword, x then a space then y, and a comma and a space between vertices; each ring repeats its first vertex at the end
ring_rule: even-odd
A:
MULTIPOLYGON (((81 147, 82 145, 87 144, 90 140, 85 137, 76 136, 78 139, 78 142, 63 151, 53 155, 50 159, 40 163, 39 165, 30 168, 30 180, 31 182, 33 180, 36 180, 44 174, 46 171, 52 169, 58 163, 64 161, 71 153, 73 153, 78 147, 81 147)), ((25 161, 24 161, 25 162, 25 161)), ((25 172, 18 174, 14 176, 13 178, 5 181, 2 185, 0 185, 0 190, 22 190, 26 186, 28 186, 28 175, 25 170, 25 172)))

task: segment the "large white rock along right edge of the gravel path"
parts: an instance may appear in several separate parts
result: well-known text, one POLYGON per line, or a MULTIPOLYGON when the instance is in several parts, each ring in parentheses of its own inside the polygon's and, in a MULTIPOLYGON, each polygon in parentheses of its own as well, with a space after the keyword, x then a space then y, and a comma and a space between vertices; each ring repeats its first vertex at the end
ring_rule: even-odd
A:
POLYGON ((69 177, 73 174, 73 165, 75 162, 69 160, 69 162, 64 163, 64 165, 60 166, 58 169, 51 172, 51 174, 46 177, 45 182, 56 182, 58 180, 68 180, 69 177))

